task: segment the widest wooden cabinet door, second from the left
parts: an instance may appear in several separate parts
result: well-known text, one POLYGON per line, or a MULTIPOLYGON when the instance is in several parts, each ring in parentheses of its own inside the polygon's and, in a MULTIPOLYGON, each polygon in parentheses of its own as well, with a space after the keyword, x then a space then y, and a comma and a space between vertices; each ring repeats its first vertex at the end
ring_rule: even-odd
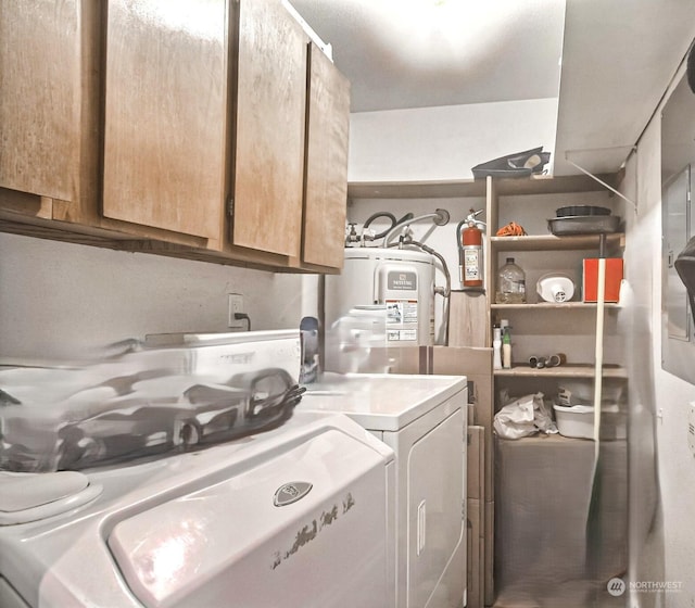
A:
POLYGON ((227 0, 109 0, 103 214, 219 241, 227 0))

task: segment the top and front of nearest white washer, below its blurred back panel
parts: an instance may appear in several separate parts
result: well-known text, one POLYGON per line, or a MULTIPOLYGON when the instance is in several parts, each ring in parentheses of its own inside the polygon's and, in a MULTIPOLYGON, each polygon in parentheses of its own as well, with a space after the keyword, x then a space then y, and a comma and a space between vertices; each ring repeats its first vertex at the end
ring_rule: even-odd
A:
POLYGON ((0 606, 394 606, 393 472, 348 417, 302 411, 148 463, 2 472, 0 606))

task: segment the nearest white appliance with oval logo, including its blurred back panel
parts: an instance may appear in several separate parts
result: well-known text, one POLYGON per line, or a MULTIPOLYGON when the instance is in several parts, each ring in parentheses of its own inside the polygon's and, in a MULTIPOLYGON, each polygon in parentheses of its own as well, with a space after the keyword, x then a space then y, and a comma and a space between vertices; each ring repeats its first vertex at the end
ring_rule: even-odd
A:
POLYGON ((299 331, 164 342, 0 370, 0 606, 395 607, 393 451, 296 410, 299 331))

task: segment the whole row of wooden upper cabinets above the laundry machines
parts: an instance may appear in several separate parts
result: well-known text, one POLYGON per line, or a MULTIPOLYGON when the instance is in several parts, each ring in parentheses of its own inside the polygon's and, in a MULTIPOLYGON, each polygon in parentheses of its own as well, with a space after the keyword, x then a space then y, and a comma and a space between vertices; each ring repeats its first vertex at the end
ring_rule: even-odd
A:
POLYGON ((0 0, 0 91, 10 221, 342 266, 350 88, 283 0, 0 0))

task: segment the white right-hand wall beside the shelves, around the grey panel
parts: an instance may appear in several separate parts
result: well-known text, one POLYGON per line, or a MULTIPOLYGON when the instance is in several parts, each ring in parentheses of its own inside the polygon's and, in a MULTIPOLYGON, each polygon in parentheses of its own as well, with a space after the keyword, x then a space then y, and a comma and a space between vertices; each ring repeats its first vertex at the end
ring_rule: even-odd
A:
MULTIPOLYGON (((682 71, 681 71, 682 73, 682 71)), ((626 191, 639 211, 628 215, 626 275, 633 322, 631 353, 632 580, 673 581, 682 591, 654 598, 634 594, 631 606, 695 606, 695 458, 687 448, 687 405, 695 385, 661 369, 661 140, 660 112, 628 164, 626 191), (654 444, 660 499, 653 487, 654 444), (664 540, 659 539, 662 522, 664 540), (664 554, 662 565, 659 563, 664 554), (656 603, 656 604, 654 604, 656 603)), ((695 365, 695 360, 692 362, 695 365)))

